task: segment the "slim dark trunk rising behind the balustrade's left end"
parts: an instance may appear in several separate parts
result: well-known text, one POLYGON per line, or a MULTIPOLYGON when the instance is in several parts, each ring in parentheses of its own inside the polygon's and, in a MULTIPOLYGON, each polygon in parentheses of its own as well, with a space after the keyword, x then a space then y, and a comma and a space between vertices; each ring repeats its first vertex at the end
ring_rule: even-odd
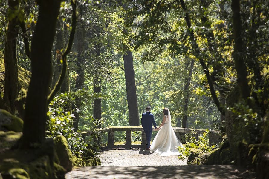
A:
MULTIPOLYGON (((96 55, 97 57, 101 58, 101 52, 100 52, 100 44, 96 47, 96 55)), ((100 93, 101 92, 101 80, 98 77, 94 77, 94 93, 100 93)), ((94 106, 93 106, 93 116, 94 119, 101 120, 102 117, 102 107, 101 107, 101 99, 94 99, 94 106)), ((97 126, 98 128, 101 128, 101 124, 97 126)))

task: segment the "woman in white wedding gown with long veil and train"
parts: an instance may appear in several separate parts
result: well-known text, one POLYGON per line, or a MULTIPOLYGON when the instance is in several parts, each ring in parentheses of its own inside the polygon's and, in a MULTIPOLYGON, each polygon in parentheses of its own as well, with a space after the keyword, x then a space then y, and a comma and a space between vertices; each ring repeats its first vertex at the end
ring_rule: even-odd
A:
POLYGON ((159 129, 160 131, 155 136, 149 149, 160 156, 180 155, 177 147, 183 147, 183 145, 171 126, 171 115, 168 108, 163 109, 163 122, 156 130, 159 129))

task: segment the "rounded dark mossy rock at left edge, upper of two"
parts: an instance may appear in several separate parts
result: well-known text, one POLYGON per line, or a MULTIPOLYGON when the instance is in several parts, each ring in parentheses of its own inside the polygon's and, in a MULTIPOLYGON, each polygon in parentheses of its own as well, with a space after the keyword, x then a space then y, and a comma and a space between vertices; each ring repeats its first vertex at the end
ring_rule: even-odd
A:
POLYGON ((4 109, 0 109, 0 130, 22 132, 23 121, 4 109))

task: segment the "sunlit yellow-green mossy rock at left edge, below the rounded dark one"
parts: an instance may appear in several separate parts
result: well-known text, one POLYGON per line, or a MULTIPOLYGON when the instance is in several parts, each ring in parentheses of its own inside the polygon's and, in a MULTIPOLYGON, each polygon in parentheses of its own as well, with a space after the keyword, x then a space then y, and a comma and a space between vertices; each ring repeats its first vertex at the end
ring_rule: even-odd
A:
POLYGON ((22 132, 0 131, 0 153, 10 149, 13 146, 18 146, 22 132))

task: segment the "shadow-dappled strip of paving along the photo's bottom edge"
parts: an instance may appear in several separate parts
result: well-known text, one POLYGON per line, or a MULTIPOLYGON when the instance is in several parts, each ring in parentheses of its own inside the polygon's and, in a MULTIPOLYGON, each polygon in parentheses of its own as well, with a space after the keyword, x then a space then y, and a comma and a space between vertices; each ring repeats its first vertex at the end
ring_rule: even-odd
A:
POLYGON ((96 166, 81 167, 66 175, 66 179, 88 178, 218 178, 255 179, 255 173, 232 165, 205 166, 96 166))

